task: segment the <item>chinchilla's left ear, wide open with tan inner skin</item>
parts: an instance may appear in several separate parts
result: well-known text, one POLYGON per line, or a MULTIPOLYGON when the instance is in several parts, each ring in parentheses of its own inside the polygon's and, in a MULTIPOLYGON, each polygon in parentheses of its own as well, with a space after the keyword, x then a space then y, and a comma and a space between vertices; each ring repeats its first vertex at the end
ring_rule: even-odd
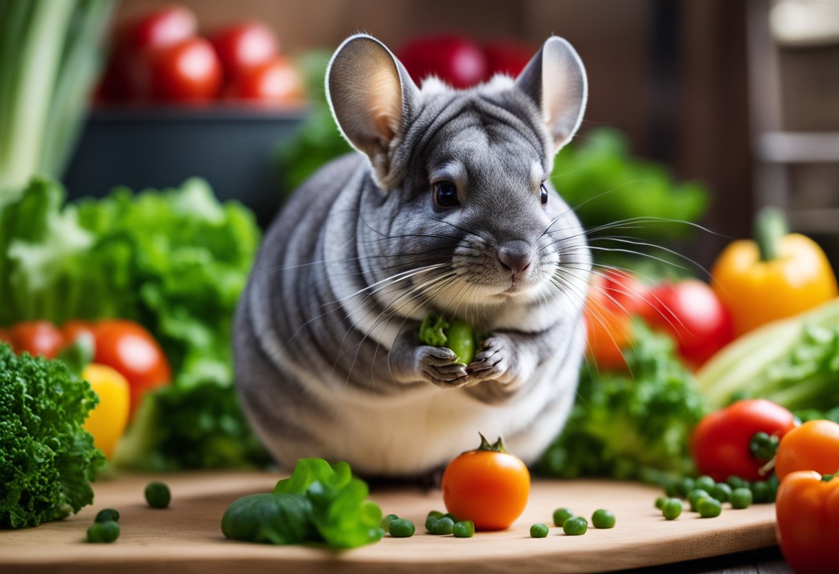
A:
POLYGON ((326 98, 341 133, 367 154, 380 187, 393 183, 391 150, 399 141, 419 94, 404 66, 367 34, 356 34, 332 55, 326 98))

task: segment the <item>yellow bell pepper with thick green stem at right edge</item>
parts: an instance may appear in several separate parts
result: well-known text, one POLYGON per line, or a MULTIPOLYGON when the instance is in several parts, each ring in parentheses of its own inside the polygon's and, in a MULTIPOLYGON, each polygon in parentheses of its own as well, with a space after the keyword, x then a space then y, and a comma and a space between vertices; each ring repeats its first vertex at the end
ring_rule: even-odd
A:
POLYGON ((731 311, 735 337, 839 295, 825 253, 809 237, 788 233, 781 211, 758 213, 755 237, 729 244, 711 268, 711 287, 731 311))

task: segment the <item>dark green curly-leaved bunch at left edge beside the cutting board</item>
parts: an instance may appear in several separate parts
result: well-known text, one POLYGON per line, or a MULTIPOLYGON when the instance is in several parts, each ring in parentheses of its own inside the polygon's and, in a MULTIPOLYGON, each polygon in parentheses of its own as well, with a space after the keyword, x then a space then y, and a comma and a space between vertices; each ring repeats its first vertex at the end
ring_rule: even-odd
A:
POLYGON ((60 361, 0 343, 0 528, 63 519, 93 502, 102 451, 82 428, 99 402, 60 361))

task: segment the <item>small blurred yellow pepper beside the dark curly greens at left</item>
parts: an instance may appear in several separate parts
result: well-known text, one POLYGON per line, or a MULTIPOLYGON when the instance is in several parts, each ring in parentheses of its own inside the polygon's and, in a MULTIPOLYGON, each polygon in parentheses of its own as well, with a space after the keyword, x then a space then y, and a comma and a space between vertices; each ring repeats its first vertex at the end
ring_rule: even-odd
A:
POLYGON ((93 444, 110 458, 128 424, 128 380, 107 365, 91 363, 81 373, 99 395, 99 404, 85 421, 85 430, 93 435, 93 444))

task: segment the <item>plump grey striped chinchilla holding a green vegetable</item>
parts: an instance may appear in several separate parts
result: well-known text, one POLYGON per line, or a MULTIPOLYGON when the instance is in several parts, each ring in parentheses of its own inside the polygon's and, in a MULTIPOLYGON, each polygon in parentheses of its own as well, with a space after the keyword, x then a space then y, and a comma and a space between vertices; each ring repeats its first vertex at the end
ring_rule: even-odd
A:
POLYGON ((285 467, 416 477, 503 436, 532 463, 571 409, 590 253, 551 188, 586 75, 552 37, 518 78, 417 87, 347 39, 326 89, 357 153, 305 182, 266 233, 234 332, 248 419, 285 467), (473 363, 418 341, 430 311, 487 334, 473 363))

